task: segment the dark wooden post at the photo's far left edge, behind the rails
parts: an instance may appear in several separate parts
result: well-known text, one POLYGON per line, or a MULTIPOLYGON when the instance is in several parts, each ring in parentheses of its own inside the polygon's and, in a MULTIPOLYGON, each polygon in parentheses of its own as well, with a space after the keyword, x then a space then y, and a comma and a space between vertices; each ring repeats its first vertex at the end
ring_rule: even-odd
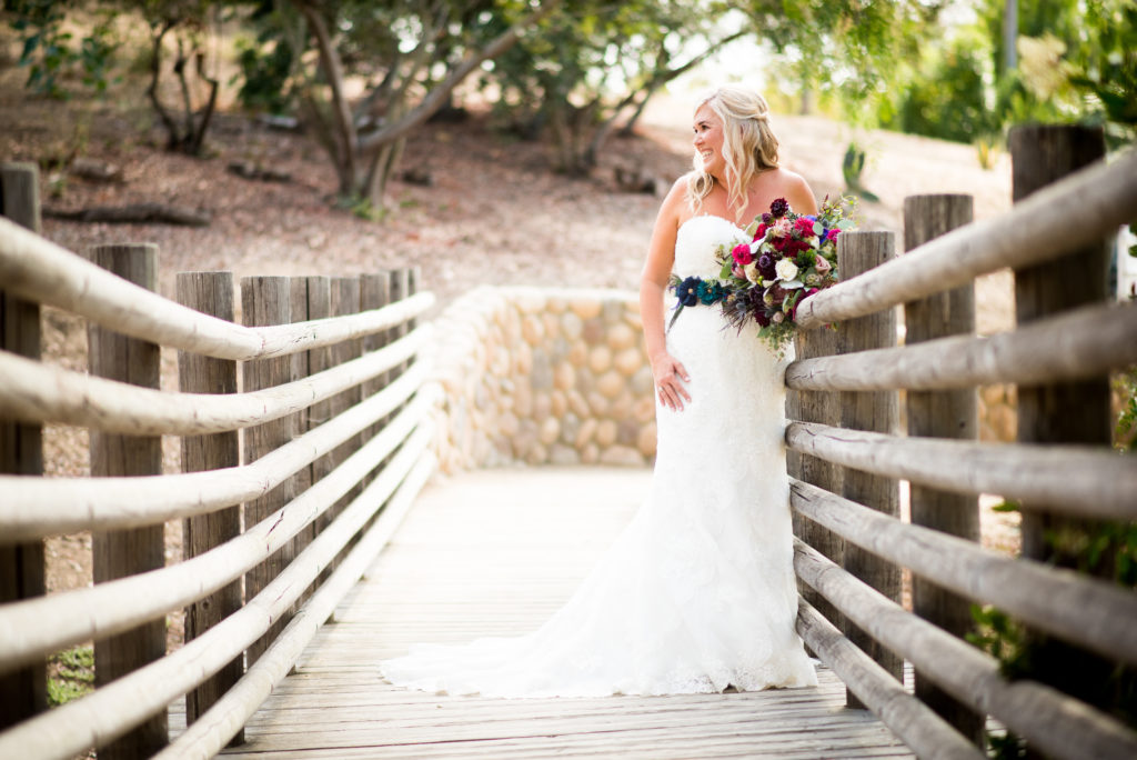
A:
MULTIPOLYGON (((0 216, 40 232, 40 172, 35 164, 0 164, 0 216)), ((0 348, 40 358, 40 305, 0 290, 0 348)), ((43 474, 39 424, 0 420, 0 472, 43 474)), ((0 604, 43 596, 43 542, 0 546, 0 604)), ((48 708, 43 661, 0 676, 0 728, 48 708)))

